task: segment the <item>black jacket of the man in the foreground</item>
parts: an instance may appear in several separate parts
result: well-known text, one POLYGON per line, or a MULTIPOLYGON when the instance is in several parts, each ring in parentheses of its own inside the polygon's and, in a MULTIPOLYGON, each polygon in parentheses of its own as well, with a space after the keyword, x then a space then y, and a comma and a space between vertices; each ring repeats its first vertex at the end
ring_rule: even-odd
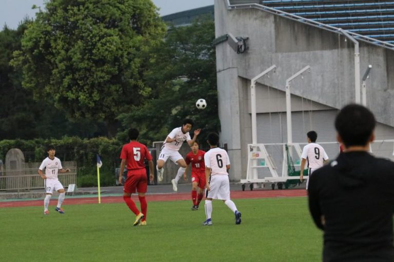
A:
POLYGON ((324 231, 323 261, 394 261, 393 162, 365 151, 341 153, 313 172, 308 195, 324 231))

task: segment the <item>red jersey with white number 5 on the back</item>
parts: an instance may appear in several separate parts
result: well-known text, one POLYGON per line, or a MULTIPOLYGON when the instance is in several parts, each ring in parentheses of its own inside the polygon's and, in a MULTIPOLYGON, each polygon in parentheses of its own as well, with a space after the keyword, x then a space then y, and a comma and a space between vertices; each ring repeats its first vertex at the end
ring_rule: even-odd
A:
POLYGON ((121 159, 126 159, 127 170, 145 168, 145 158, 152 160, 148 148, 139 142, 132 141, 122 148, 121 159))

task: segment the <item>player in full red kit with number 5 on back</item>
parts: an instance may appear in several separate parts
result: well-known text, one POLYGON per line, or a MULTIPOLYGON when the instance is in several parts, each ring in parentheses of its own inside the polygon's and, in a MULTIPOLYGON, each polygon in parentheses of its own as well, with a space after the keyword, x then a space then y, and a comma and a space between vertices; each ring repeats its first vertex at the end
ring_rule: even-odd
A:
MULTIPOLYGON (((152 156, 150 155, 148 148, 137 142, 137 138, 140 132, 131 128, 129 130, 130 143, 126 144, 122 148, 121 152, 121 170, 119 174, 123 174, 127 163, 127 178, 125 186, 123 188, 123 199, 127 206, 136 215, 133 226, 139 225, 146 226, 146 211, 147 203, 145 199, 145 193, 148 186, 146 178, 146 169, 144 160, 147 159, 149 163, 149 180, 153 180, 153 162, 152 156), (134 201, 131 199, 131 194, 135 193, 135 189, 138 192, 138 198, 140 199, 141 212, 135 206, 134 201)), ((123 176, 119 176, 119 184, 122 185, 123 176)))

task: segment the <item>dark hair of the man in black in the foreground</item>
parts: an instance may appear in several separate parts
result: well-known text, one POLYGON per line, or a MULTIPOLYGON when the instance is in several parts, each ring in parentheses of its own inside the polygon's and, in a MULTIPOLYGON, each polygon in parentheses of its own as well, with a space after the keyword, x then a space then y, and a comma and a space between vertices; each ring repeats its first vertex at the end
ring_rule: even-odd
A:
POLYGON ((372 112, 356 104, 342 108, 335 119, 335 128, 346 147, 367 145, 375 125, 372 112))

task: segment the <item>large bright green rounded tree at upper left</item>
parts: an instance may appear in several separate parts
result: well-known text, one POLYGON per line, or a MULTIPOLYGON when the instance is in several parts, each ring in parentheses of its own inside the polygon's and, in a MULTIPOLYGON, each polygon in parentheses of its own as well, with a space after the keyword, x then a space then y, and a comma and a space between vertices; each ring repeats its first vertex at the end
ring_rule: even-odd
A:
POLYGON ((69 119, 103 120, 139 105, 149 50, 165 25, 150 0, 51 0, 25 31, 12 65, 36 100, 52 100, 69 119))

